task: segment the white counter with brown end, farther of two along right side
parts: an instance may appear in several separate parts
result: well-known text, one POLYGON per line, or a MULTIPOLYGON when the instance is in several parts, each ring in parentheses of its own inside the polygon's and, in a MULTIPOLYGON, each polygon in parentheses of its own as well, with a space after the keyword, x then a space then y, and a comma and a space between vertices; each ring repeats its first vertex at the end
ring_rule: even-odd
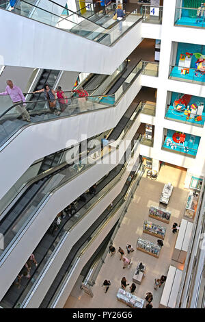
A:
POLYGON ((193 223, 182 219, 172 255, 172 260, 176 260, 176 262, 180 262, 182 264, 184 263, 191 239, 192 228, 193 223))

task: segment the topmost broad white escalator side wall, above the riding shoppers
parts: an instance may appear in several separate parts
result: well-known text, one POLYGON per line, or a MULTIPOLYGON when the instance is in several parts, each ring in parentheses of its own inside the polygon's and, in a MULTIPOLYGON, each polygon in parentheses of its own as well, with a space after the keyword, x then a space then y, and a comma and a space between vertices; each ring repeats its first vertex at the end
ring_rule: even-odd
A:
POLYGON ((0 64, 112 74, 141 42, 140 29, 141 21, 113 47, 107 47, 18 14, 0 10, 0 38, 4 44, 1 47, 0 64))

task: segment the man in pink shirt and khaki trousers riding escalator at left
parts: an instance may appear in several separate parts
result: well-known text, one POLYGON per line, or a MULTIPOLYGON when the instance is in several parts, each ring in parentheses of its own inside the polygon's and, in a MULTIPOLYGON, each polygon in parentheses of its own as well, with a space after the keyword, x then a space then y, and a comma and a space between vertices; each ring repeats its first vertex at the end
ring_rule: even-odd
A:
POLYGON ((9 95, 12 103, 15 105, 16 110, 20 115, 22 115, 23 121, 31 122, 29 112, 26 110, 26 100, 23 95, 22 90, 20 87, 13 84, 11 80, 6 81, 6 88, 5 92, 1 92, 1 96, 7 96, 9 95))

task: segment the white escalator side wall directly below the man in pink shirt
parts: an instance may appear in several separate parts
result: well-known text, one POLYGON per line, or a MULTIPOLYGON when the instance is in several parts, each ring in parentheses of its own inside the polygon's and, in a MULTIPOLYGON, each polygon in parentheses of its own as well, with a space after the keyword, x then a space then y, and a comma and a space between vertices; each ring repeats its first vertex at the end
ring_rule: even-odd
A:
POLYGON ((81 142, 81 134, 90 138, 115 127, 141 89, 138 78, 115 107, 28 125, 23 129, 1 151, 0 177, 4 184, 0 186, 0 198, 35 160, 70 147, 70 139, 81 142))

